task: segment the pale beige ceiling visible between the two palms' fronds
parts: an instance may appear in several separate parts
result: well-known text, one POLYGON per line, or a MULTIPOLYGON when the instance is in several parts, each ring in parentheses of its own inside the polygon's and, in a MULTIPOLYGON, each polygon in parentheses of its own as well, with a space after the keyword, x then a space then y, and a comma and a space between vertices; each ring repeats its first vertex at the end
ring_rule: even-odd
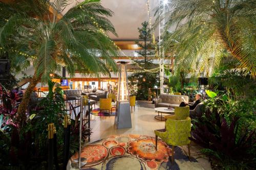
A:
MULTIPOLYGON (((67 8, 64 13, 76 3, 82 0, 72 0, 73 4, 67 8)), ((158 6, 159 0, 148 0, 150 3, 150 14, 152 23, 154 23, 154 9, 158 6)), ((113 23, 118 37, 110 34, 109 36, 115 41, 134 41, 138 39, 138 27, 141 27, 143 21, 149 21, 147 15, 146 0, 101 0, 102 6, 109 8, 115 14, 109 18, 113 23)), ((156 31, 156 37, 157 37, 156 31)))

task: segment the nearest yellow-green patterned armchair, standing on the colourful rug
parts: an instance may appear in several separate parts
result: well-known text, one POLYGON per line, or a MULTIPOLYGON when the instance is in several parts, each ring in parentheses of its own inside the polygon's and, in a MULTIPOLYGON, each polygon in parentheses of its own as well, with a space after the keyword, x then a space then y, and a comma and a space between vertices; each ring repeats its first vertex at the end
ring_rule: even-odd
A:
POLYGON ((175 120, 169 118, 165 122, 165 129, 155 130, 156 134, 156 150, 158 136, 167 144, 172 145, 172 162, 174 162, 174 148, 176 146, 187 145, 188 157, 190 159, 190 130, 191 119, 186 117, 183 120, 175 120))

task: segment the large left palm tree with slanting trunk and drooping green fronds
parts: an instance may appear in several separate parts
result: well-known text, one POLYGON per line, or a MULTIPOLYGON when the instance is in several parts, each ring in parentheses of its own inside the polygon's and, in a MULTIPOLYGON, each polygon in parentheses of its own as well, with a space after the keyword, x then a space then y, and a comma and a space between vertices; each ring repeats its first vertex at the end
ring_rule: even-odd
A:
POLYGON ((36 84, 47 82, 49 75, 62 66, 71 76, 77 70, 96 76, 109 74, 110 68, 117 71, 112 59, 117 48, 105 34, 116 35, 112 23, 105 18, 113 12, 103 8, 99 0, 86 0, 61 16, 71 1, 51 2, 19 0, 0 4, 0 15, 5 20, 0 29, 0 44, 17 70, 30 64, 35 70, 18 108, 20 123, 26 119, 30 94, 36 84))

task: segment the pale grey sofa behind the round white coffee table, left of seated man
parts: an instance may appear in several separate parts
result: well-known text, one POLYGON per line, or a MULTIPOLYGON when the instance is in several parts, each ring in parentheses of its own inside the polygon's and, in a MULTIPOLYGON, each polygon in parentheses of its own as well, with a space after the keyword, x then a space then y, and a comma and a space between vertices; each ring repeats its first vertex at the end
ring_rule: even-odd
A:
POLYGON ((183 102, 182 97, 188 101, 186 95, 160 94, 159 98, 155 100, 155 107, 177 107, 183 102))

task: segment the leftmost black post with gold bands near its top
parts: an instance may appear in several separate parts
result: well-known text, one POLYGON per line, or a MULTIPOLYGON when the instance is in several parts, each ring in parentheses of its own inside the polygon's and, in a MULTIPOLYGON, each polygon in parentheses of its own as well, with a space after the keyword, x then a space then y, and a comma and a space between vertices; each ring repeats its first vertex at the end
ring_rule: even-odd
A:
POLYGON ((49 147, 48 147, 48 169, 53 170, 53 128, 54 124, 48 124, 48 139, 49 139, 49 147))

